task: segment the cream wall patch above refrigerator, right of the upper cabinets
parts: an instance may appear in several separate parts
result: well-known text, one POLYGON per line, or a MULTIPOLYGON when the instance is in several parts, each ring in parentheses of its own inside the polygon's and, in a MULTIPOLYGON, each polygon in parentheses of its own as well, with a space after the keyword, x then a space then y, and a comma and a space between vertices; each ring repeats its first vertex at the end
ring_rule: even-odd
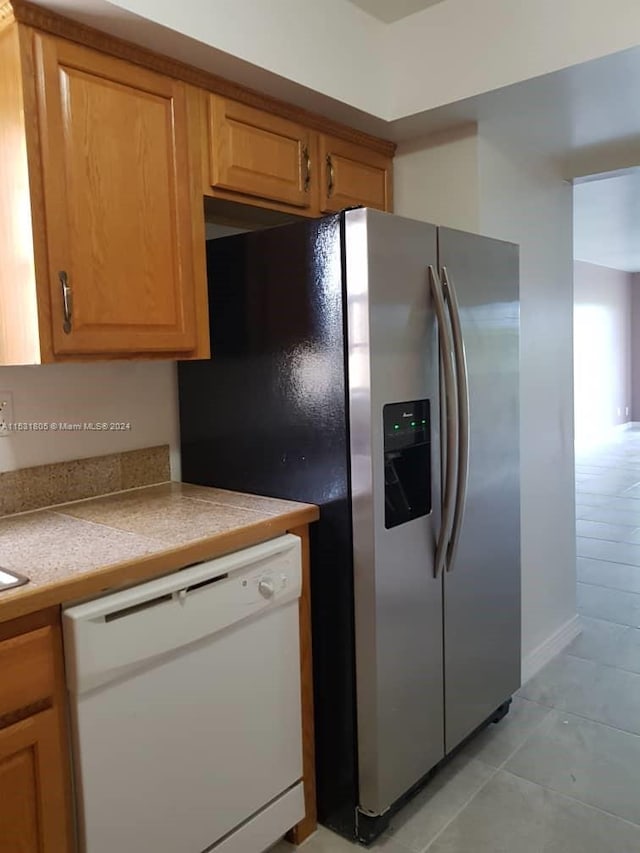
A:
POLYGON ((397 213, 478 231, 478 190, 475 124, 398 146, 393 163, 397 213))

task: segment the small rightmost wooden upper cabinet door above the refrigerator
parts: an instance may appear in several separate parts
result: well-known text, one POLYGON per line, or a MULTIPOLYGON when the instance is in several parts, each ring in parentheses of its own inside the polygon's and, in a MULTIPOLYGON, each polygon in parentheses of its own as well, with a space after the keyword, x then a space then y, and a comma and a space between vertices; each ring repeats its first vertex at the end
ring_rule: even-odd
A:
POLYGON ((369 148, 320 135, 320 209, 392 210, 391 158, 369 148))

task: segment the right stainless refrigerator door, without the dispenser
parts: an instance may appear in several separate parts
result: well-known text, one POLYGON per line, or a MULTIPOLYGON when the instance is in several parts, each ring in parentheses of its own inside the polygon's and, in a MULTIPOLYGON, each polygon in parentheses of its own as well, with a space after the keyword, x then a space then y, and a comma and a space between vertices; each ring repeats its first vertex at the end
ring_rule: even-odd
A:
POLYGON ((438 249, 469 383, 466 502, 444 579, 450 752, 520 686, 519 269, 517 246, 475 234, 440 228, 438 249))

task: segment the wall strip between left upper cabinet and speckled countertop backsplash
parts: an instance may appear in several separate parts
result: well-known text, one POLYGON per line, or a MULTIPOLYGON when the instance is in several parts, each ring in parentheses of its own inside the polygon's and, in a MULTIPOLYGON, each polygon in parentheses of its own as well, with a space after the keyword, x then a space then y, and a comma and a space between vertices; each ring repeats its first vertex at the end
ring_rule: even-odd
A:
POLYGON ((122 432, 12 433, 0 438, 0 471, 169 444, 172 473, 179 476, 172 362, 1 367, 0 391, 12 394, 14 421, 131 423, 122 432))

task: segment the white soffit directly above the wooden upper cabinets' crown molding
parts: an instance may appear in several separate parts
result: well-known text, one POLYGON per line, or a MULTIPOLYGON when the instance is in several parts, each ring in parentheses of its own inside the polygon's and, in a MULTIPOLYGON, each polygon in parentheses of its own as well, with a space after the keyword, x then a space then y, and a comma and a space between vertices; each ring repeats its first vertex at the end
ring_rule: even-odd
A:
POLYGON ((260 91, 266 91, 265 81, 277 89, 277 75, 373 115, 384 112, 388 100, 392 69, 381 61, 386 26, 345 0, 44 0, 42 5, 222 76, 239 74, 241 82, 260 91), (268 72, 262 79, 261 70, 268 72))

